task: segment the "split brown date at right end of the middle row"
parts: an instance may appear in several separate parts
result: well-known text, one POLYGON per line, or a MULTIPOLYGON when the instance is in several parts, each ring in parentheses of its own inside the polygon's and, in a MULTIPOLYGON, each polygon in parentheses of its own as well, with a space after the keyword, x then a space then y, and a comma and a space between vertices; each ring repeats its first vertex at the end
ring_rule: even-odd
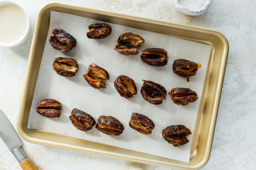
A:
POLYGON ((198 98, 197 93, 189 88, 173 88, 168 94, 171 96, 171 99, 175 104, 182 106, 195 102, 198 98))

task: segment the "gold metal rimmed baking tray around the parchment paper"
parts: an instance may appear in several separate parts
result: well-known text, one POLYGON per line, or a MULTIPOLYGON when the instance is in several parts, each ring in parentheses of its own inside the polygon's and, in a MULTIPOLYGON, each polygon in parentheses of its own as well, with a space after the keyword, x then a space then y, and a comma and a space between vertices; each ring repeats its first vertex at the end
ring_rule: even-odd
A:
POLYGON ((27 73, 17 120, 18 132, 23 139, 35 144, 82 151, 91 154, 110 156, 176 169, 200 169, 206 165, 210 157, 228 52, 228 41, 225 36, 218 31, 76 5, 56 2, 49 3, 43 6, 39 11, 35 23, 27 65, 27 73), (64 12, 95 20, 138 28, 145 31, 152 31, 212 46, 203 86, 202 98, 197 115, 196 127, 192 139, 189 163, 91 142, 84 139, 53 134, 38 129, 27 129, 30 108, 37 83, 37 76, 47 39, 51 11, 64 12))

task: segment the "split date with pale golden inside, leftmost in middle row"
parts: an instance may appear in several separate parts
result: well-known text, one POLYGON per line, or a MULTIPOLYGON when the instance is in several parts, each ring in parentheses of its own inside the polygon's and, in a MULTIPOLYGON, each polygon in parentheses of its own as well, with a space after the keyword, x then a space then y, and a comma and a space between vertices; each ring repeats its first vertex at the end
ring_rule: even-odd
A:
POLYGON ((73 77, 78 71, 78 63, 73 58, 55 58, 53 62, 53 70, 61 76, 73 77))

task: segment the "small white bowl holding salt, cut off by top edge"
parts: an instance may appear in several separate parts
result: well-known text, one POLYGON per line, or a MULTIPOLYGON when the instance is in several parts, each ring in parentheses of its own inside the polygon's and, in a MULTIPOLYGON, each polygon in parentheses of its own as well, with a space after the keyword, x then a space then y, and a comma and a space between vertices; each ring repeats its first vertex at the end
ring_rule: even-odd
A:
POLYGON ((203 5, 203 7, 198 10, 190 10, 185 6, 182 6, 179 3, 179 0, 174 0, 174 4, 176 9, 182 12, 183 14, 197 16, 203 14, 208 9, 208 7, 212 4, 212 0, 205 0, 205 4, 203 5))

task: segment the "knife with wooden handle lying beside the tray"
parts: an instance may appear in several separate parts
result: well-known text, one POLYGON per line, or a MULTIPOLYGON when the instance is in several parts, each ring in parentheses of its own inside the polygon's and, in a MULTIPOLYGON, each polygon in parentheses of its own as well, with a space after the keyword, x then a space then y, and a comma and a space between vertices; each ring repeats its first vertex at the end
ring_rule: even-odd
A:
POLYGON ((5 113, 0 109, 0 137, 3 139, 11 153, 20 163, 22 170, 37 170, 37 167, 21 149, 21 140, 13 129, 5 113))

